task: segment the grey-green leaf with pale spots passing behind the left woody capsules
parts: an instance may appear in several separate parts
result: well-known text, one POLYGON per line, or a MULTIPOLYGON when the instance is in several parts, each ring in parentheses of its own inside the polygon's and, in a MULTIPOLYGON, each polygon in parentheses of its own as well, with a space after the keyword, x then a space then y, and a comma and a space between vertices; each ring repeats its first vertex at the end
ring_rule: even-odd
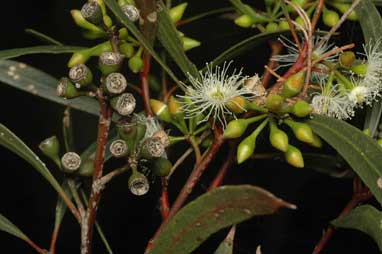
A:
POLYGON ((98 115, 98 103, 88 97, 65 100, 56 95, 58 81, 52 76, 12 60, 0 60, 0 82, 72 108, 98 115))

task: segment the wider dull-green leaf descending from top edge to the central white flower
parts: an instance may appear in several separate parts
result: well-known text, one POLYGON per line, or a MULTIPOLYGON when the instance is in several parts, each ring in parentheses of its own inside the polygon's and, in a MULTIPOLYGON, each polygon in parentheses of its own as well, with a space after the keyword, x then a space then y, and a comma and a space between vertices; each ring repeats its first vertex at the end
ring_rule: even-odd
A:
POLYGON ((186 77, 191 75, 199 78, 198 69, 184 53, 183 43, 171 21, 167 7, 162 2, 160 2, 160 6, 162 11, 159 12, 158 39, 186 77))

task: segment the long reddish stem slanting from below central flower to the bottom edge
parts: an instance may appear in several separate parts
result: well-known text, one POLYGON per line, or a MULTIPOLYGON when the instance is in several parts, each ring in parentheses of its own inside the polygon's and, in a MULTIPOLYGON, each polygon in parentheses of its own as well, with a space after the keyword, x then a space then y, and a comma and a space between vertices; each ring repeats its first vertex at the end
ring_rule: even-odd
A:
POLYGON ((215 135, 215 139, 214 139, 214 142, 213 142, 210 150, 203 157, 203 160, 198 165, 196 165, 194 170, 191 172, 190 176, 187 179, 187 182, 184 184, 182 190, 180 191, 178 197, 176 198, 174 204, 172 205, 167 218, 162 222, 162 224, 160 225, 160 227, 156 231, 155 235, 153 236, 153 238, 148 243, 145 253, 147 253, 147 251, 149 251, 151 249, 152 244, 157 239, 157 237, 159 236, 159 234, 162 231, 162 229, 164 228, 164 226, 167 225, 167 223, 172 219, 172 217, 174 217, 174 215, 182 207, 182 205, 184 204, 184 202, 187 200, 188 196, 190 195, 190 193, 194 189, 196 183, 199 181, 200 176, 203 174, 204 170, 211 163, 211 161, 213 160, 213 158, 215 157, 215 155, 219 151, 220 147, 223 145, 223 143, 224 143, 223 131, 220 128, 215 127, 214 135, 215 135))

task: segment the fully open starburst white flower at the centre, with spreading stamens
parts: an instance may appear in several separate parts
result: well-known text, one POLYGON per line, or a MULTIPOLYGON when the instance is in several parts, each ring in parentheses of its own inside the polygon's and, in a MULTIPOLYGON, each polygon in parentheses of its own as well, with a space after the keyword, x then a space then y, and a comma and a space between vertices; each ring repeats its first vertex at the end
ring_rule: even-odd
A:
MULTIPOLYGON (((256 94, 245 88, 242 71, 233 71, 228 75, 227 71, 232 61, 224 63, 223 67, 216 66, 214 69, 207 64, 207 71, 201 74, 201 80, 189 76, 191 86, 186 87, 186 94, 179 96, 184 99, 183 110, 186 118, 203 114, 200 122, 207 121, 211 117, 213 121, 219 121, 223 126, 227 124, 226 116, 233 113, 227 107, 237 96, 252 98, 256 94)), ((240 105, 237 105, 240 106, 240 105)))

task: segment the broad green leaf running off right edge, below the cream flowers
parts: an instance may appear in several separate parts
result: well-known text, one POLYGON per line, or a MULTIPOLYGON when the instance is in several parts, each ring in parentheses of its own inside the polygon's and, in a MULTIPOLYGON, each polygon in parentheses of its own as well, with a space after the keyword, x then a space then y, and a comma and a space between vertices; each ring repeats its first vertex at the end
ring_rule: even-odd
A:
POLYGON ((337 150, 382 203, 382 148, 354 126, 334 118, 315 115, 307 123, 337 150))

